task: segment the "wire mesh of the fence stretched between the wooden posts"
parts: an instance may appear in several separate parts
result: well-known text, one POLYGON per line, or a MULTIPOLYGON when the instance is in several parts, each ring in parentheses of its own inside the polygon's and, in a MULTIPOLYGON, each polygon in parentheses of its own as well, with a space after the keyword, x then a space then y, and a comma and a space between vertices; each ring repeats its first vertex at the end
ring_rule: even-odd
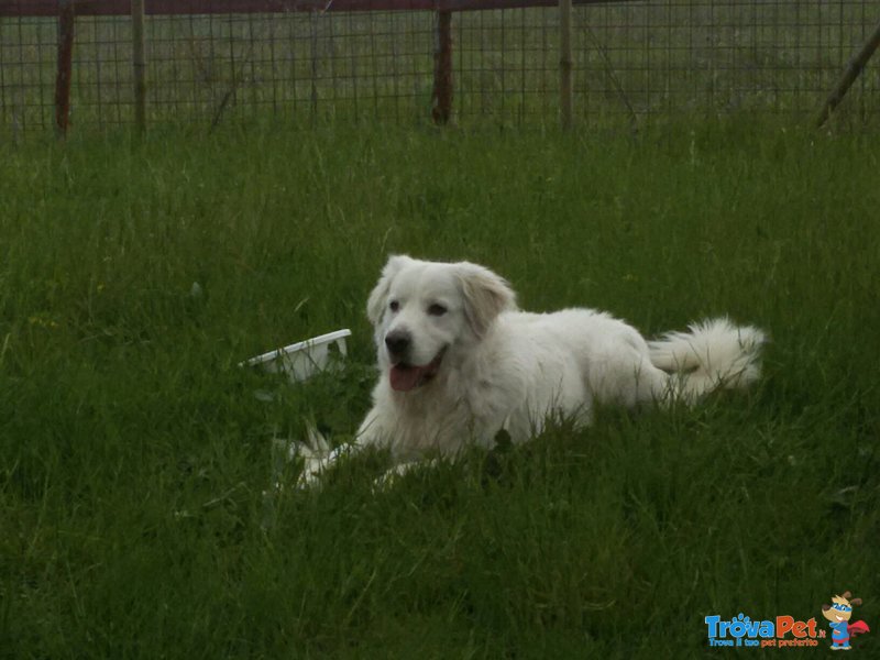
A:
MULTIPOLYGON (((102 3, 122 15, 77 10, 75 127, 133 120, 129 2, 102 3)), ((28 15, 37 4, 47 3, 0 0, 0 125, 14 132, 53 125, 58 20, 28 15)), ((233 4, 233 13, 147 16, 151 122, 430 121, 438 21, 424 9, 430 2, 350 0, 364 11, 340 11, 329 0, 273 12, 266 2, 233 4)), ((880 0, 575 4, 575 117, 811 114, 878 20, 880 0)), ((451 24, 457 121, 556 121, 554 7, 455 11, 451 24)), ((859 121, 880 116, 879 64, 868 65, 840 112, 859 121)))

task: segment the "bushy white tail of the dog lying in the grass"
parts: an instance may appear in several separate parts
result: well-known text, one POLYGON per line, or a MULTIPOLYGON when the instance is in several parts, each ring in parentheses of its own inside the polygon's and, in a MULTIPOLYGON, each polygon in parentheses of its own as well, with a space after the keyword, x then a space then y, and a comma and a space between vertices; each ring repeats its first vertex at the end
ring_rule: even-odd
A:
POLYGON ((693 323, 648 342, 651 363, 669 373, 674 398, 694 403, 713 389, 741 389, 760 377, 767 336, 727 318, 693 323))

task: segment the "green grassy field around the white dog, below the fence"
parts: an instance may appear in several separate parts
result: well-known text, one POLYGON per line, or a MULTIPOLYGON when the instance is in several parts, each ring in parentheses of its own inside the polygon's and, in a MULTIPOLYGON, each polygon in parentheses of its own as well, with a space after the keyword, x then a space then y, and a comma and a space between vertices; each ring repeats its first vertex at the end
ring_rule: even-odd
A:
POLYGON ((859 657, 880 651, 876 134, 1 146, 0 656, 691 658, 707 615, 826 629, 845 590, 875 628, 859 657), (363 308, 391 252, 649 334, 729 312, 772 336, 766 377, 380 494, 360 464, 268 501, 296 476, 276 440, 306 420, 344 440, 369 405, 363 308), (341 327, 338 378, 237 366, 341 327))

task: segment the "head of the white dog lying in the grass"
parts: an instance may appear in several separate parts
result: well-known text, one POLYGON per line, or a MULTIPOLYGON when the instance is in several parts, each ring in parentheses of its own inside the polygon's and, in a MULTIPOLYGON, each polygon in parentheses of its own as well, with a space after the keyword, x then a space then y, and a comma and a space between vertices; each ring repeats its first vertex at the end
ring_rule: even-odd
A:
POLYGON ((420 387, 441 372, 450 352, 480 341, 502 311, 514 308, 514 292, 488 268, 392 256, 366 304, 383 377, 387 372, 398 392, 420 387))

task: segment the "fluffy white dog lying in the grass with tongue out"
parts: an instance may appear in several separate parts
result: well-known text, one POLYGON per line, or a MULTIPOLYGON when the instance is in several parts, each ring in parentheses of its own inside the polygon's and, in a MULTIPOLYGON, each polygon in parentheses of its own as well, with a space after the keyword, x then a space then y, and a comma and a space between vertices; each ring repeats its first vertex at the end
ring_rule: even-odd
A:
MULTIPOLYGON (((392 256, 367 301, 381 377, 356 448, 391 450, 395 463, 514 442, 548 417, 587 425, 594 404, 696 402, 759 376, 765 334, 715 319, 647 342, 607 314, 529 314, 502 277, 476 264, 392 256)), ((333 453, 307 465, 312 481, 333 453)))

